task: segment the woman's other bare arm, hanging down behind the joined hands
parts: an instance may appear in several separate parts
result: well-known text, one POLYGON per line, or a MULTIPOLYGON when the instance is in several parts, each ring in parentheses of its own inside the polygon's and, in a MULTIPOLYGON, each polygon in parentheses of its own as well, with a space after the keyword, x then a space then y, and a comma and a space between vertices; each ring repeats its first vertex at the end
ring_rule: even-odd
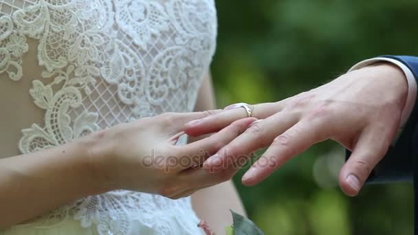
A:
MULTIPOLYGON (((199 90, 195 111, 215 109, 212 79, 206 76, 199 90)), ((232 225, 230 209, 245 215, 245 210, 232 181, 200 190, 192 195, 192 205, 199 219, 208 222, 212 232, 224 234, 232 225)))

